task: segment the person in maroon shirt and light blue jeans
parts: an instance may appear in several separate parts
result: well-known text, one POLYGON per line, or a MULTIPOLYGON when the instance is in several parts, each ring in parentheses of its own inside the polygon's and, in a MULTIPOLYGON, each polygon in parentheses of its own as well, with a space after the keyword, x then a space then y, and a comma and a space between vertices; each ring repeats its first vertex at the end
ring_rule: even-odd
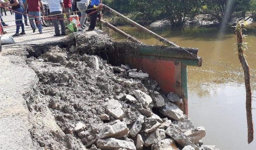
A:
POLYGON ((42 6, 42 13, 44 14, 44 5, 42 3, 41 0, 26 0, 25 1, 25 12, 27 13, 27 9, 28 9, 28 18, 29 18, 29 22, 33 28, 33 33, 35 32, 35 29, 37 28, 35 26, 34 23, 34 17, 37 20, 37 24, 38 24, 38 31, 40 34, 42 34, 42 21, 41 21, 41 15, 40 15, 40 5, 42 6), (29 7, 28 7, 29 5, 29 7))

